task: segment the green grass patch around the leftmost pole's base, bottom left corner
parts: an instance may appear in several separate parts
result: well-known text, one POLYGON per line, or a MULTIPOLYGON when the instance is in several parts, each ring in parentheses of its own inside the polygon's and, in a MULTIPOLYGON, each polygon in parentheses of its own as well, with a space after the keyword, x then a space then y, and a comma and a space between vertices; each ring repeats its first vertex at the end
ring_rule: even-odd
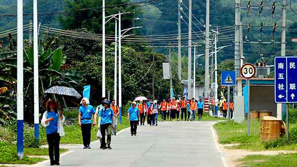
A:
POLYGON ((29 158, 24 156, 22 160, 17 158, 16 145, 8 142, 0 142, 0 164, 36 164, 44 161, 43 158, 29 158))

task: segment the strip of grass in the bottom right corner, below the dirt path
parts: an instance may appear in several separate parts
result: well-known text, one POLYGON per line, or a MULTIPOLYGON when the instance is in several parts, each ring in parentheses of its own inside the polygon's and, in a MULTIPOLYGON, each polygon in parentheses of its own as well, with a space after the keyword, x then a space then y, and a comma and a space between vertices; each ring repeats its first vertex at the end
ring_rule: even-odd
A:
POLYGON ((250 155, 238 160, 239 167, 297 167, 297 154, 250 155))

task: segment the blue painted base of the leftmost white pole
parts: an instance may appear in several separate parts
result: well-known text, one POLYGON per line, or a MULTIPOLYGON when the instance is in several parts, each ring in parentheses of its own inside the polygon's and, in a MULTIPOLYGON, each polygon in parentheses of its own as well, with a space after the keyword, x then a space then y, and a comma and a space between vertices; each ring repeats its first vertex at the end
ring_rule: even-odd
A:
POLYGON ((24 121, 17 120, 17 157, 23 159, 24 157, 24 121))

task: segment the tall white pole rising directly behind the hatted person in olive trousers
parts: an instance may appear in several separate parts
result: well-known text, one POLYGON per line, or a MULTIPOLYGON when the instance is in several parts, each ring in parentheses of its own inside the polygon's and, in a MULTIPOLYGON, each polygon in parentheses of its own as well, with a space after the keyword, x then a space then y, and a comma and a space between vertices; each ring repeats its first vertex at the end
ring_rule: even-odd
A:
POLYGON ((105 97, 105 0, 102 0, 102 97, 105 97))

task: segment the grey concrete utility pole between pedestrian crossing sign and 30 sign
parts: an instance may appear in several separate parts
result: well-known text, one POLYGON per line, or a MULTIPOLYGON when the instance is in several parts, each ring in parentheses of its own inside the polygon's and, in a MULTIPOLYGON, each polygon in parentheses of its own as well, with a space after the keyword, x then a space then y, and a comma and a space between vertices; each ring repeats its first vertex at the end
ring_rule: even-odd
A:
MULTIPOLYGON (((236 77, 240 76, 240 0, 235 0, 235 50, 234 50, 234 64, 236 77)), ((235 96, 237 96, 237 87, 234 90, 235 96)))

